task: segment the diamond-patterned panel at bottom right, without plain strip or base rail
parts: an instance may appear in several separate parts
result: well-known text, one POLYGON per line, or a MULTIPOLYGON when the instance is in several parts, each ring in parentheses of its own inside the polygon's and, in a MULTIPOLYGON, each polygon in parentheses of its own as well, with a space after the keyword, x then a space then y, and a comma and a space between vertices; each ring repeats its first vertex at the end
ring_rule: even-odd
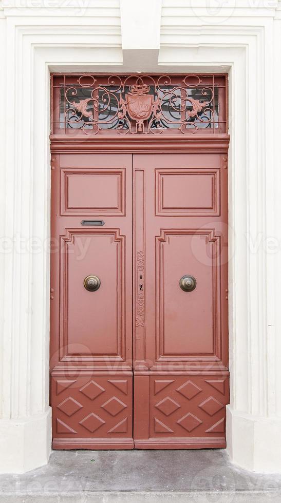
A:
POLYGON ((223 443, 228 376, 166 375, 150 381, 149 437, 195 437, 214 447, 216 439, 223 443))

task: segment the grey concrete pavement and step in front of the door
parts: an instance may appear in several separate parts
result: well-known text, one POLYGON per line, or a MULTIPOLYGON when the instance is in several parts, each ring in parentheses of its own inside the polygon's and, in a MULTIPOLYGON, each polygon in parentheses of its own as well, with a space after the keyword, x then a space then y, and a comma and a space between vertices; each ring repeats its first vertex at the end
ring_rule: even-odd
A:
POLYGON ((281 474, 233 466, 224 450, 53 451, 47 466, 0 475, 5 503, 281 502, 281 474))

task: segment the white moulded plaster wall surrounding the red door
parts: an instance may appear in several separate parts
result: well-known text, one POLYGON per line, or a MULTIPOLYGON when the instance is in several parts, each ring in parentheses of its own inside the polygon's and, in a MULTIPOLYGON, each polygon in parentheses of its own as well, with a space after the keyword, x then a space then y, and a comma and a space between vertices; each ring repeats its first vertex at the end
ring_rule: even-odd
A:
POLYGON ((229 71, 228 451, 242 467, 281 471, 281 4, 56 5, 4 0, 0 10, 0 471, 50 453, 48 100, 59 70, 229 71))

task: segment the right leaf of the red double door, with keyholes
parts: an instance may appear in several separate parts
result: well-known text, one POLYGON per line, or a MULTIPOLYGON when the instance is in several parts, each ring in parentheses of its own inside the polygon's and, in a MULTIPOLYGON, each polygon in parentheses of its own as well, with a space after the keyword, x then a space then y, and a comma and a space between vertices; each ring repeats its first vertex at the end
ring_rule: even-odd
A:
POLYGON ((225 166, 215 153, 133 158, 137 448, 226 443, 225 166), (196 278, 191 292, 180 288, 184 275, 196 278))

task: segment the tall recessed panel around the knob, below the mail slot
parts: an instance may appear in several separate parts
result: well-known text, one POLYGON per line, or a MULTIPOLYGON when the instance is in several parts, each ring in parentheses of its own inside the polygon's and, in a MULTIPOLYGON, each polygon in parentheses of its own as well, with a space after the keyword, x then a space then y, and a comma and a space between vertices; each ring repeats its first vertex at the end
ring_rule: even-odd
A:
POLYGON ((124 359, 124 241, 118 229, 66 229, 61 238, 63 360, 124 359), (101 281, 97 294, 84 286, 89 272, 101 281))

